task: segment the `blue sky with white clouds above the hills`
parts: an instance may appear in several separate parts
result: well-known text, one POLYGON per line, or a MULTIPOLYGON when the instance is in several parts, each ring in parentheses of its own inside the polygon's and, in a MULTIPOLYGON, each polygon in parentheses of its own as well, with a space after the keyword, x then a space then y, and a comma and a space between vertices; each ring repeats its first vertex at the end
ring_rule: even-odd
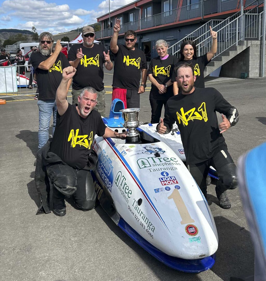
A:
MULTIPOLYGON (((110 10, 115 10, 132 0, 110 0, 110 10)), ((108 0, 0 0, 1 28, 66 32, 97 22, 97 17, 109 12, 108 0)))

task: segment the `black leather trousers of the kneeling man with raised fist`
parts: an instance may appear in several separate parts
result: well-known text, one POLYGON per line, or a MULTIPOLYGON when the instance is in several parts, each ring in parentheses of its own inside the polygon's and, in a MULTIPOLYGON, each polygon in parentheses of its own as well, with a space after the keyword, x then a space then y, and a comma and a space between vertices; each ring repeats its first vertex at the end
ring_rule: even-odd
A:
POLYGON ((95 207, 96 192, 90 171, 63 164, 49 165, 46 171, 53 186, 54 209, 63 209, 66 206, 64 199, 71 195, 78 208, 91 210, 95 207))

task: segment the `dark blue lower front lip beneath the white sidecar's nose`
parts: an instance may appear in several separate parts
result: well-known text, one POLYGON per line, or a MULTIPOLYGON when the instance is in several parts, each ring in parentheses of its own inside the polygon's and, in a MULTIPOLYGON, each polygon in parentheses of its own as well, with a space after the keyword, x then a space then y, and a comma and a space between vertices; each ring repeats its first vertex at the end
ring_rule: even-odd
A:
POLYGON ((150 253, 160 262, 169 266, 170 268, 184 271, 188 273, 199 273, 210 269, 215 263, 215 254, 210 257, 206 257, 198 260, 185 260, 176 257, 171 257, 159 249, 155 248, 152 244, 146 241, 141 235, 139 235, 128 223, 126 223, 122 218, 118 222, 118 226, 132 238, 139 246, 150 253))

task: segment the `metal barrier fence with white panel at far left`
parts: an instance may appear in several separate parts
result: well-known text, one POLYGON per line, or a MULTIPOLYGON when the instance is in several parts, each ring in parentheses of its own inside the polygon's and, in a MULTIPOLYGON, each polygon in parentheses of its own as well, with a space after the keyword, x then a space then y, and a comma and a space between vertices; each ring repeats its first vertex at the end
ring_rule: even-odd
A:
POLYGON ((28 67, 31 65, 0 67, 0 98, 35 95, 37 84, 28 67), (33 89, 29 89, 31 81, 33 89))

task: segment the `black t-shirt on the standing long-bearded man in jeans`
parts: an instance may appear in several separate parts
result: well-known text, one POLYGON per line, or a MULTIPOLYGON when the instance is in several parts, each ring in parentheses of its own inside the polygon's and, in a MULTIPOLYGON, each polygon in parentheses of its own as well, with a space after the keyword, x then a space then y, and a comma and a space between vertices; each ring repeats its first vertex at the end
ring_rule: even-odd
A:
POLYGON ((62 71, 65 67, 70 66, 66 56, 63 53, 59 53, 55 63, 49 70, 38 68, 41 62, 44 62, 49 58, 39 52, 33 52, 31 54, 31 65, 35 69, 37 76, 37 83, 39 89, 39 98, 44 101, 47 99, 55 99, 56 90, 62 80, 62 71))

